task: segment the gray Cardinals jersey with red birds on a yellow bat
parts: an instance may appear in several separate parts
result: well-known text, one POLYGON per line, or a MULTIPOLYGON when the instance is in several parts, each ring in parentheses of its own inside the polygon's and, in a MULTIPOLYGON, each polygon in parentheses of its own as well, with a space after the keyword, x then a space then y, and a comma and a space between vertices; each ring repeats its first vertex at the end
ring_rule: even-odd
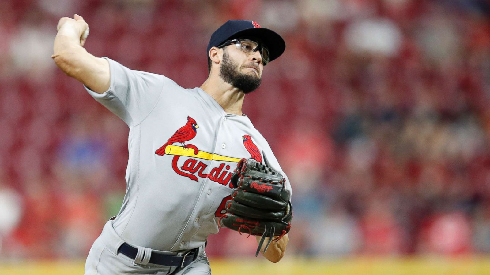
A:
POLYGON ((285 175, 246 115, 226 114, 200 88, 106 59, 109 90, 87 91, 129 126, 127 189, 113 222, 128 243, 171 252, 203 245, 218 232, 242 158, 267 160, 285 175))

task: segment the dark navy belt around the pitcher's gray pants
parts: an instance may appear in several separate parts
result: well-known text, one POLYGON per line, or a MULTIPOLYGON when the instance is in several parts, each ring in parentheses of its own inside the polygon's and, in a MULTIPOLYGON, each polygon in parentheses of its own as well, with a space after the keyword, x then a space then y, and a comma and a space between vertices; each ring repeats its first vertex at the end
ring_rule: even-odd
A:
MULTIPOLYGON (((185 267, 190 265, 196 259, 198 250, 199 248, 195 248, 182 256, 164 255, 157 252, 152 252, 149 263, 156 265, 185 267)), ((123 243, 119 247, 118 253, 123 253, 134 260, 134 258, 136 258, 136 253, 138 253, 138 249, 128 245, 127 243, 123 243)))

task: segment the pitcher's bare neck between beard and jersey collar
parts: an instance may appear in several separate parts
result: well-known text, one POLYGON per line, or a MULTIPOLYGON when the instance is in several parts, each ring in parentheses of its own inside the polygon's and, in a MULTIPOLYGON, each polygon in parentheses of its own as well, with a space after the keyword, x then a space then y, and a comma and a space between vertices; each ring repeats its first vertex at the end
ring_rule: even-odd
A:
POLYGON ((245 93, 224 82, 221 77, 210 75, 199 88, 211 95, 226 114, 242 115, 245 93))

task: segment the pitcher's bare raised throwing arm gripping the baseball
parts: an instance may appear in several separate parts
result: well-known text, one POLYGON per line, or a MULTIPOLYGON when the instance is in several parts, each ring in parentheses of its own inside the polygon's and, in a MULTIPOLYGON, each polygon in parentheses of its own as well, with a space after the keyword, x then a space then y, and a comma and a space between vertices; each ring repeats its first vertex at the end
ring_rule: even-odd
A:
POLYGON ((110 86, 109 62, 87 52, 83 38, 88 24, 79 15, 60 19, 54 39, 54 63, 67 75, 94 92, 103 93, 110 86))

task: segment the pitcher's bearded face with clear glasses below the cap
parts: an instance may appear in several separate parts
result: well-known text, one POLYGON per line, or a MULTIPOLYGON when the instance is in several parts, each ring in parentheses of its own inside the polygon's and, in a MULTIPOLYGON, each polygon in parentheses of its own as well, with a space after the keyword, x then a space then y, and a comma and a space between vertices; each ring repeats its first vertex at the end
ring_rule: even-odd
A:
POLYGON ((242 92, 249 93, 260 86, 262 65, 260 52, 252 55, 230 45, 223 48, 223 59, 220 66, 220 77, 226 83, 242 92))

